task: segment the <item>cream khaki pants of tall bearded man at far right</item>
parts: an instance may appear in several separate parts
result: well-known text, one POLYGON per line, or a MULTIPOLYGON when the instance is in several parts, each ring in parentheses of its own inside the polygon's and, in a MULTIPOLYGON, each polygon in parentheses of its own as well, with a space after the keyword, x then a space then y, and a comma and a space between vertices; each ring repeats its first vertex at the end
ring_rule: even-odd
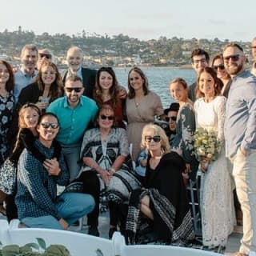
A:
POLYGON ((256 251, 256 150, 244 155, 238 149, 233 161, 233 176, 243 214, 240 252, 256 251))

